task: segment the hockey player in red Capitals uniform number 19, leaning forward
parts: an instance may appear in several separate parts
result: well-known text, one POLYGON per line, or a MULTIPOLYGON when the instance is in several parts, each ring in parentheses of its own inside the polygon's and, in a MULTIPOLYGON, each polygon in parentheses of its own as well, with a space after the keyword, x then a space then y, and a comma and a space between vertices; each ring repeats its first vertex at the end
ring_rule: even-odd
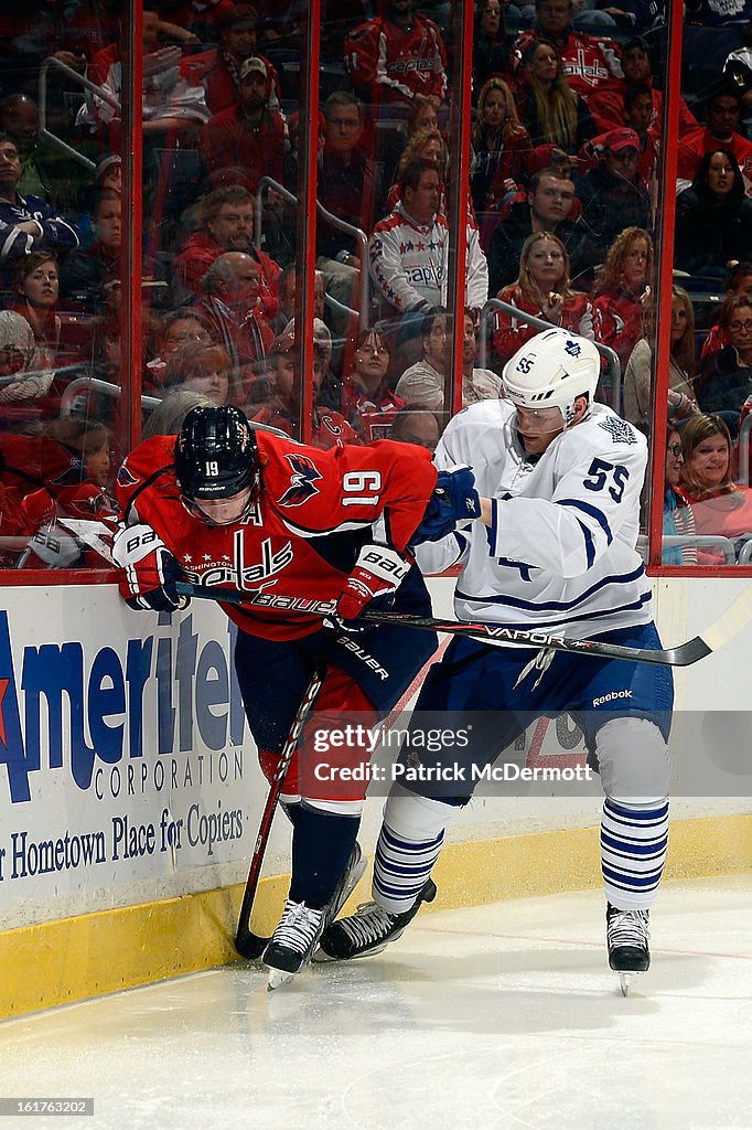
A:
MULTIPOLYGON (((270 780, 315 671, 323 673, 317 715, 357 712, 373 724, 432 654, 428 633, 350 632, 375 599, 429 611, 409 545, 436 483, 428 452, 390 441, 316 451, 254 432, 233 406, 194 408, 177 441, 147 440, 123 463, 124 525, 113 556, 128 602, 176 610, 178 575, 248 594, 222 607, 239 629, 235 666, 270 780)), ((292 881, 264 951, 272 986, 305 968, 365 866, 356 836, 366 783, 316 783, 306 771, 311 740, 308 730, 300 772, 294 759, 282 793, 292 881)), ((362 762, 362 748, 350 756, 362 762)))

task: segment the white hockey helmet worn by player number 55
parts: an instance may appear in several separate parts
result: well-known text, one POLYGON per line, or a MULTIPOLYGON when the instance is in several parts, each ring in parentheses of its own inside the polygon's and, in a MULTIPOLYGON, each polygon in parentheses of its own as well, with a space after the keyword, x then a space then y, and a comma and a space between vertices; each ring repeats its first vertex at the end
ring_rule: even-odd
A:
POLYGON ((559 408, 568 427, 575 400, 593 403, 601 355, 593 341, 554 327, 531 338, 504 366, 506 395, 519 408, 559 408))

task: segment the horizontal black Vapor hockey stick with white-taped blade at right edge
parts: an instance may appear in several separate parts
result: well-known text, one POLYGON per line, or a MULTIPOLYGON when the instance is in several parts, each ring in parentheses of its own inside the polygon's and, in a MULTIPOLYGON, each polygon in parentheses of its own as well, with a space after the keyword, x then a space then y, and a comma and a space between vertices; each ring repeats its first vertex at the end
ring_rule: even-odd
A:
MULTIPOLYGON (((195 597, 199 600, 219 600, 228 605, 256 605, 263 608, 274 608, 274 597, 259 590, 241 592, 238 589, 203 588, 202 585, 177 583, 177 591, 184 597, 195 597)), ((300 611, 315 612, 321 616, 334 611, 333 601, 298 601, 300 611)), ((280 608, 289 610, 294 605, 288 598, 280 598, 280 608)), ((716 624, 702 633, 688 640, 677 647, 656 649, 626 647, 621 644, 603 643, 598 640, 568 640, 565 636, 548 635, 545 632, 525 632, 522 628, 507 628, 496 624, 483 624, 481 620, 443 620, 431 616, 411 616, 408 612, 379 612, 367 608, 362 618, 371 624, 391 624, 395 627, 419 628, 426 632, 446 632, 449 635, 464 635, 473 640, 498 640, 504 643, 516 643, 530 647, 551 647, 553 651, 568 651, 577 655, 594 655, 596 659, 627 659, 632 663, 661 663, 667 667, 690 667, 705 659, 711 652, 731 640, 740 628, 752 617, 752 585, 737 597, 729 608, 719 617, 716 624)))

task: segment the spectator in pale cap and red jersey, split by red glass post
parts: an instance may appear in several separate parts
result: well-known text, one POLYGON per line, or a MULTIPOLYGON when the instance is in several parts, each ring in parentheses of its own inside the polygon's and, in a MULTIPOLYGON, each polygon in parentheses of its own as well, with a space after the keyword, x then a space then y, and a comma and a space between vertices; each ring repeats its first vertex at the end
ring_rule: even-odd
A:
MULTIPOLYGON (((296 344, 295 333, 282 333, 274 338, 266 354, 265 364, 271 395, 266 405, 251 418, 255 423, 269 424, 298 438, 301 373, 300 349, 296 344)), ((312 377, 314 407, 308 441, 311 445, 327 451, 330 447, 341 447, 346 443, 361 443, 360 436, 350 427, 341 412, 332 408, 320 408, 316 403, 324 380, 324 359, 321 346, 317 344, 314 344, 312 377)))

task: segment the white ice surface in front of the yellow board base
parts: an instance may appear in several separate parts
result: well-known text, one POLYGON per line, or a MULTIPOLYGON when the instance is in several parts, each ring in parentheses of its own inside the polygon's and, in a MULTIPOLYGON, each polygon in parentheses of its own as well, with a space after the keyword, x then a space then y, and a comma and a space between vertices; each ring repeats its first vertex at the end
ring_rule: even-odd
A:
MULTIPOLYGON (((421 914, 266 992, 237 965, 0 1025, 0 1130, 750 1130, 752 879, 666 885, 629 998, 597 893, 421 914)), ((29 975, 33 975, 29 971, 29 975)))

